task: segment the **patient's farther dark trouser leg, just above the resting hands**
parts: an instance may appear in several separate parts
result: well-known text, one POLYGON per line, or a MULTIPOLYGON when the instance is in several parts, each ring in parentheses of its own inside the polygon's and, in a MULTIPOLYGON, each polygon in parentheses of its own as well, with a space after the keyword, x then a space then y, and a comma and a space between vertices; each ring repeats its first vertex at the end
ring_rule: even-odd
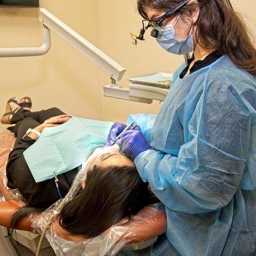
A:
POLYGON ((12 117, 11 124, 17 124, 17 122, 22 121, 24 118, 30 117, 36 120, 36 122, 42 124, 45 120, 53 117, 65 114, 58 108, 49 108, 46 110, 31 112, 24 108, 21 108, 12 117))

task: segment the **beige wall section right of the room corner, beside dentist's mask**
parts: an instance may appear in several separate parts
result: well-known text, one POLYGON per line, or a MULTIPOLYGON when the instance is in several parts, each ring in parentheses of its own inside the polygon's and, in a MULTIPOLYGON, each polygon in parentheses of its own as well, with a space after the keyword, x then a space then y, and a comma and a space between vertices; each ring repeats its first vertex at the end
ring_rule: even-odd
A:
MULTIPOLYGON (((182 61, 180 56, 166 54, 148 32, 144 42, 132 44, 129 32, 138 34, 141 29, 135 0, 99 0, 99 25, 100 47, 127 68, 125 77, 173 72, 182 61)), ((103 77, 102 84, 106 83, 108 77, 103 77)), ((128 81, 124 79, 120 84, 128 86, 128 81)), ((148 105, 102 97, 102 106, 104 119, 124 121, 129 113, 157 113, 161 104, 154 102, 148 105)))

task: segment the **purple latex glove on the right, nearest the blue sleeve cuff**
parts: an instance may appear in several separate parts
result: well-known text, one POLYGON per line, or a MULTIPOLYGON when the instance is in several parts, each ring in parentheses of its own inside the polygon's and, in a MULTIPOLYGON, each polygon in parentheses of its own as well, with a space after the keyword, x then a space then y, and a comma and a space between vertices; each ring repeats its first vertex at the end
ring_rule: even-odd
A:
POLYGON ((142 132, 136 130, 122 132, 116 144, 123 145, 124 154, 131 157, 132 161, 134 161, 140 153, 151 148, 142 132))

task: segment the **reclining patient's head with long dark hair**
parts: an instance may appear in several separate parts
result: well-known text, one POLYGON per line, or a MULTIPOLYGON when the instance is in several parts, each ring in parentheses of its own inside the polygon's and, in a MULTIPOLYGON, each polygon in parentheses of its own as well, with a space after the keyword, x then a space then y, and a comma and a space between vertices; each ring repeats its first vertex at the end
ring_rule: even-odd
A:
POLYGON ((85 188, 61 211, 60 225, 70 234, 98 236, 150 204, 147 184, 134 163, 127 156, 113 153, 104 152, 91 159, 85 188))

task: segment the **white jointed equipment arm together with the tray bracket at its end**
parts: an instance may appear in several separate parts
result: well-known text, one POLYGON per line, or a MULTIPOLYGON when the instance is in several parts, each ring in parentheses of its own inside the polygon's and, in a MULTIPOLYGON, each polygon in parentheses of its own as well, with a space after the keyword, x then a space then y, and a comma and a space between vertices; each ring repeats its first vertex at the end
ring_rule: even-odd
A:
POLYGON ((111 77, 111 84, 104 86, 104 95, 106 97, 147 104, 151 104, 153 100, 163 101, 165 99, 168 89, 135 83, 130 83, 129 88, 117 86, 116 81, 120 81, 126 71, 124 67, 100 51, 95 45, 79 35, 74 29, 70 28, 45 8, 40 8, 39 20, 44 24, 44 28, 42 29, 44 40, 40 47, 0 48, 0 58, 46 54, 51 47, 51 31, 53 31, 111 77))

